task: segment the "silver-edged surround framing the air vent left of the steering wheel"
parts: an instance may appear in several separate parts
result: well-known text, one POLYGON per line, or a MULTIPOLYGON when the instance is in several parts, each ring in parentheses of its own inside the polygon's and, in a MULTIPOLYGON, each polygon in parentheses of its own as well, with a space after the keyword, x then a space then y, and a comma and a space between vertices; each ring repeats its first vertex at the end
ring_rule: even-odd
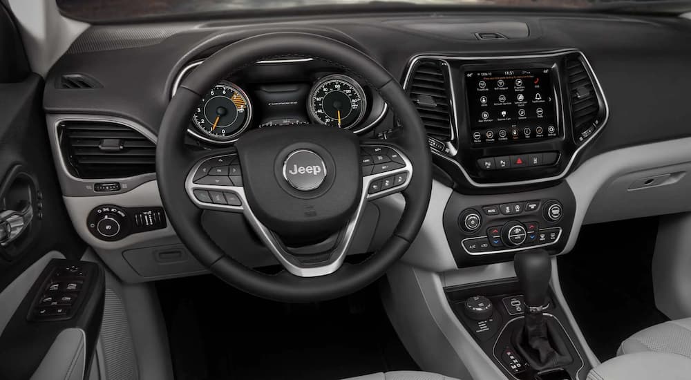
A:
POLYGON ((127 126, 144 135, 144 137, 153 142, 153 144, 157 144, 158 136, 154 135, 144 126, 131 120, 123 119, 122 117, 102 115, 48 114, 46 115, 46 121, 46 124, 48 125, 48 137, 50 139, 50 145, 53 147, 53 160, 55 161, 55 167, 57 169, 64 196, 111 196, 114 194, 125 193, 126 191, 138 187, 140 184, 156 179, 156 173, 145 173, 135 175, 133 177, 123 178, 77 178, 70 173, 64 160, 64 155, 62 154, 62 149, 60 147, 60 137, 57 130, 62 122, 108 122, 127 126), (98 193, 93 191, 93 184, 97 182, 120 182, 122 189, 120 191, 98 193))

